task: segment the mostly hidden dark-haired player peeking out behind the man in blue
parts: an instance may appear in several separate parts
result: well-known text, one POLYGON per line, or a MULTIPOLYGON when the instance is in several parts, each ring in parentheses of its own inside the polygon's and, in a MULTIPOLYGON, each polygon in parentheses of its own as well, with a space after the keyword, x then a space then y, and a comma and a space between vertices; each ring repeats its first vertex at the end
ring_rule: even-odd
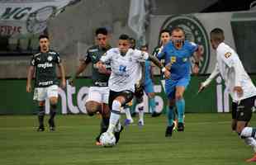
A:
MULTIPOLYGON (((160 54, 162 52, 164 45, 166 45, 169 40, 171 40, 171 31, 168 31, 167 29, 160 31, 160 45, 154 48, 153 55, 157 57, 157 54, 160 54)), ((162 59, 161 62, 164 63, 164 59, 162 59)), ((152 111, 152 117, 157 117, 159 115, 161 115, 161 113, 154 110, 152 111)))

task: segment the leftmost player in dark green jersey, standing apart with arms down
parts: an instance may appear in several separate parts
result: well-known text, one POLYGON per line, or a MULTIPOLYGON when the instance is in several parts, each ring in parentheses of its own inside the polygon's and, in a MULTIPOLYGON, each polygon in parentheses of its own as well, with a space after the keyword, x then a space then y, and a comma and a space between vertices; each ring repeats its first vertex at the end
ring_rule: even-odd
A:
POLYGON ((45 99, 50 99, 50 119, 48 124, 50 130, 55 130, 55 115, 58 102, 58 78, 56 66, 59 68, 61 76, 61 87, 66 86, 64 67, 59 58, 59 54, 50 50, 50 40, 47 35, 39 36, 40 53, 32 55, 31 66, 28 68, 26 92, 31 92, 31 79, 36 70, 36 82, 34 90, 34 100, 38 101, 38 121, 37 131, 44 131, 45 99))

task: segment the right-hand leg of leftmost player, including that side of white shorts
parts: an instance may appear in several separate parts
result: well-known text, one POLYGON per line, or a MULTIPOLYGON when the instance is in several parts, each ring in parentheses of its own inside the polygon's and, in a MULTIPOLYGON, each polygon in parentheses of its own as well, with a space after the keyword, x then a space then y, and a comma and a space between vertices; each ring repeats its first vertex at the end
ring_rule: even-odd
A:
POLYGON ((57 113, 57 103, 58 103, 58 86, 52 85, 47 87, 47 97, 50 100, 50 119, 48 120, 48 124, 50 126, 50 130, 55 130, 55 115, 57 113))

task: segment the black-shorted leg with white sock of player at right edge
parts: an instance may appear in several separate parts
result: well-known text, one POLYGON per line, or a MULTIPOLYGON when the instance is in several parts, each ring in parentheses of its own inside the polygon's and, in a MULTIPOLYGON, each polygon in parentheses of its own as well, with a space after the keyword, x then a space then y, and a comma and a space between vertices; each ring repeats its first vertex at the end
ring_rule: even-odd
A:
POLYGON ((253 114, 255 99, 256 97, 244 99, 237 106, 236 132, 244 139, 245 144, 248 144, 254 149, 254 157, 248 159, 247 162, 256 162, 256 128, 248 125, 253 114))

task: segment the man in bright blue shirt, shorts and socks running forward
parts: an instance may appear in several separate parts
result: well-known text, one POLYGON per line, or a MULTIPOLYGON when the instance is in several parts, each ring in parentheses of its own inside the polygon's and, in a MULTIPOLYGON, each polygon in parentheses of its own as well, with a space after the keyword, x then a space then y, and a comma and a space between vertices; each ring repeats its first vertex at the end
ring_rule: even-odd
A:
MULTIPOLYGON (((165 80, 165 92, 168 96, 168 127, 165 132, 166 137, 173 134, 173 108, 178 109, 178 131, 184 131, 185 100, 183 93, 191 78, 190 57, 196 52, 198 46, 185 40, 185 32, 181 27, 174 27, 171 33, 172 42, 168 42, 164 49, 158 54, 159 59, 164 59, 166 68, 170 68, 171 77, 165 80)), ((196 56, 197 63, 193 67, 193 72, 198 73, 199 51, 196 56)))

